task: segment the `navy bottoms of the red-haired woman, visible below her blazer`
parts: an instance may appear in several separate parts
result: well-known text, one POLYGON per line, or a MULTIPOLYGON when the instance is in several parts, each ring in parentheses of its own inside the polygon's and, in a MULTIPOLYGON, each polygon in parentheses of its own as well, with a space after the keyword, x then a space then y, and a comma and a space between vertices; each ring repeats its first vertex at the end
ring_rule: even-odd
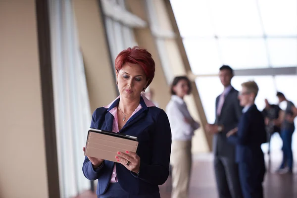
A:
POLYGON ((149 195, 130 195, 117 182, 109 183, 106 192, 103 195, 98 195, 97 198, 160 198, 160 194, 159 192, 152 192, 149 195))

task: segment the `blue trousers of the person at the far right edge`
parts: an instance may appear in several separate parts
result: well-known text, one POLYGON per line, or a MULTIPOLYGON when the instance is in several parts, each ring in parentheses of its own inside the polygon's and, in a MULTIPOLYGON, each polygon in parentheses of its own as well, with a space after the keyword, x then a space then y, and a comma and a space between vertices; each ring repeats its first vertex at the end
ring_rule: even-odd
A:
POLYGON ((292 170, 293 168, 293 152, 292 152, 292 135, 294 130, 282 130, 281 138, 283 140, 283 162, 280 168, 286 165, 292 170))

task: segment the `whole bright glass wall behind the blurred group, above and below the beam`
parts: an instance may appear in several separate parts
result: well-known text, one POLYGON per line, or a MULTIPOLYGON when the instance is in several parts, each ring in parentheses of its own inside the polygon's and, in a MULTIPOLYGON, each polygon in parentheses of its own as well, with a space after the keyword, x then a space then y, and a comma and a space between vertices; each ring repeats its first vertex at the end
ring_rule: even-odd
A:
MULTIPOLYGON (((254 80, 256 104, 277 103, 280 91, 297 105, 297 76, 257 74, 258 68, 297 67, 296 0, 170 0, 208 122, 215 119, 215 99, 223 87, 214 74, 222 64, 253 69, 254 76, 235 76, 232 85, 254 80), (205 86, 207 85, 207 86, 205 86)), ((249 74, 250 75, 250 74, 249 74)), ((297 119, 296 119, 297 122, 297 119)), ((279 137, 275 137, 277 139, 279 137)), ((281 142, 273 140, 275 149, 281 142)), ((297 142, 294 134, 293 142, 297 142)), ((297 146, 293 147, 297 149, 297 146)))

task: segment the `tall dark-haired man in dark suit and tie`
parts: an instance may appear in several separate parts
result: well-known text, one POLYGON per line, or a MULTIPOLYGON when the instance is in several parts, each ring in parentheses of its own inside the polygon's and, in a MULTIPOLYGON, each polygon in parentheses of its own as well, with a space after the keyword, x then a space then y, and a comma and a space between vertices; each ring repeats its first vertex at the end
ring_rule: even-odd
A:
POLYGON ((227 141, 226 134, 237 127, 243 107, 238 100, 238 91, 231 86, 233 69, 223 65, 220 67, 219 77, 224 92, 216 98, 215 123, 207 124, 205 128, 214 134, 214 170, 219 198, 242 198, 235 146, 227 141))

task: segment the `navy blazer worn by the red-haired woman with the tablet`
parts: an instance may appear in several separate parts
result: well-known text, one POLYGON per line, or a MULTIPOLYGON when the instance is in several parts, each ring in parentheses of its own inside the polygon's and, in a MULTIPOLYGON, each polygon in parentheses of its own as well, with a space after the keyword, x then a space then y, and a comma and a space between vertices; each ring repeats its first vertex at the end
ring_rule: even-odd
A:
MULTIPOLYGON (((118 105, 116 99, 109 108, 97 108, 92 117, 91 128, 112 131, 113 115, 109 112, 118 105)), ((164 110, 148 107, 141 97, 142 108, 135 113, 119 133, 138 137, 137 154, 140 156, 139 174, 129 171, 120 163, 104 160, 103 166, 93 168, 88 157, 83 163, 83 173, 89 180, 98 179, 97 195, 106 192, 113 166, 116 166, 117 179, 122 189, 132 195, 150 194, 159 191, 169 175, 171 152, 171 130, 164 110)), ((114 153, 114 156, 116 153, 114 153)))

